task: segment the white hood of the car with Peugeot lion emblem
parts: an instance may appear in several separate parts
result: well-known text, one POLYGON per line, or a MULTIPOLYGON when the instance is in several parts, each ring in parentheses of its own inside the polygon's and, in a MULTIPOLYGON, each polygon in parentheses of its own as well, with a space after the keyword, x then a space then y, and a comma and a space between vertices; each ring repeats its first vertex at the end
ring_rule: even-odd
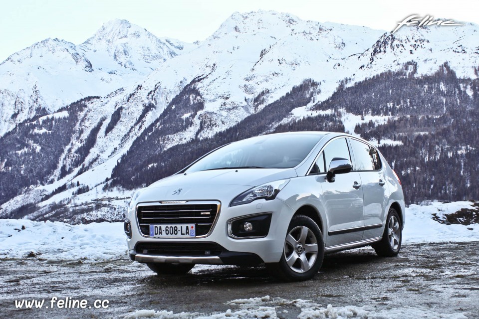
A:
POLYGON ((143 188, 135 201, 232 198, 251 187, 295 176, 293 168, 215 169, 176 174, 143 188))

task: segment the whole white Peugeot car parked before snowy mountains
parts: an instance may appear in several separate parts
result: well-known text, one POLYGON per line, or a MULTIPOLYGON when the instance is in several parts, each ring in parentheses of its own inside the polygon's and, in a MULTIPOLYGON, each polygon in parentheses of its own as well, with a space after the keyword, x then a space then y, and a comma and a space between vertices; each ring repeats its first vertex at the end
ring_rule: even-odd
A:
POLYGON ((371 245, 396 256, 404 211, 399 178, 374 146, 280 133, 227 144, 138 190, 125 232, 131 259, 158 274, 265 263, 306 280, 327 252, 371 245))

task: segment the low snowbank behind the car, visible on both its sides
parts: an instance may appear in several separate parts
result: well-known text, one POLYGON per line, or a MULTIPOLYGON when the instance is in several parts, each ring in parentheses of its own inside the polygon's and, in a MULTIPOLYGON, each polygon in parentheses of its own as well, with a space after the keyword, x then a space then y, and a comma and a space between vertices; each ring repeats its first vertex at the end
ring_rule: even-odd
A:
MULTIPOLYGON (((474 202, 432 202, 406 209, 403 243, 462 242, 479 240, 479 224, 442 224, 448 214, 470 209, 474 202)), ((120 222, 69 225, 60 222, 34 222, 26 219, 0 219, 0 258, 35 257, 49 262, 61 260, 108 260, 127 258, 126 236, 120 222)))

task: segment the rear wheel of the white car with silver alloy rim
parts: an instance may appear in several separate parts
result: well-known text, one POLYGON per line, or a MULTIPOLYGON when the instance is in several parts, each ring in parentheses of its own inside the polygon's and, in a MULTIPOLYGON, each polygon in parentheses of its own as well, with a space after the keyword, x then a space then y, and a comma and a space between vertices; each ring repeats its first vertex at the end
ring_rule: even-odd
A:
POLYGON ((384 227, 383 238, 372 245, 376 254, 381 257, 395 257, 401 250, 402 227, 399 214, 394 208, 389 209, 386 227, 384 227))

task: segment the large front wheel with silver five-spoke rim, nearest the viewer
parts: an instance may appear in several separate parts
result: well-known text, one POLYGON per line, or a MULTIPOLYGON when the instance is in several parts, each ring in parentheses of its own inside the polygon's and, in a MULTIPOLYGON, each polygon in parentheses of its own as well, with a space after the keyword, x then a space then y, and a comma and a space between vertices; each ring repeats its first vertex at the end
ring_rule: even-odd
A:
POLYGON ((289 223, 280 261, 266 267, 281 280, 304 281, 318 273, 323 258, 324 242, 318 225, 307 216, 296 215, 289 223))

